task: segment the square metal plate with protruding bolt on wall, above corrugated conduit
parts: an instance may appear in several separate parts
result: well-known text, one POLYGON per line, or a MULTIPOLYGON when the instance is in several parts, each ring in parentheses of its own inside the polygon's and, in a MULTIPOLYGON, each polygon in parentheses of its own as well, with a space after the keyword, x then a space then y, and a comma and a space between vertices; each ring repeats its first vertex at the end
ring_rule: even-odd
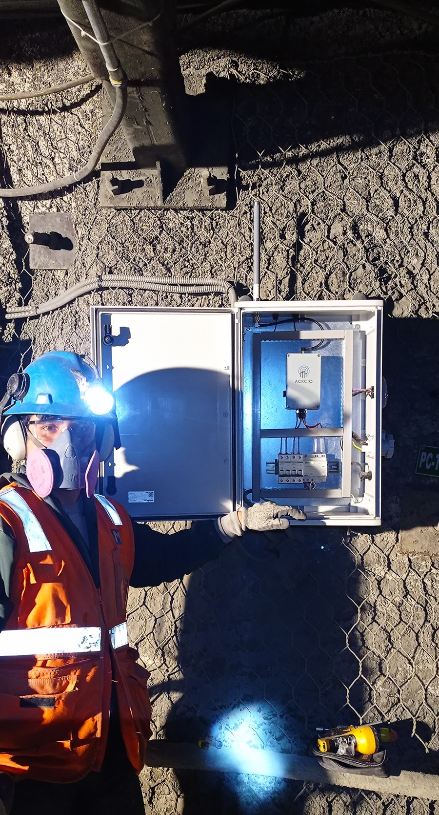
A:
POLYGON ((29 215, 30 269, 70 269, 75 257, 77 235, 69 212, 39 212, 29 215))

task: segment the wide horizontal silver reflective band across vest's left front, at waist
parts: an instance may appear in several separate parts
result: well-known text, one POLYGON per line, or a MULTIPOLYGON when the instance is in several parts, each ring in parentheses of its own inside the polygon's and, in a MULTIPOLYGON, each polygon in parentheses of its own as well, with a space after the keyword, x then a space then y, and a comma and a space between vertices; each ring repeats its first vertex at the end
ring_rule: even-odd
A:
POLYGON ((19 628, 0 632, 0 656, 84 654, 101 650, 102 630, 89 628, 19 628))

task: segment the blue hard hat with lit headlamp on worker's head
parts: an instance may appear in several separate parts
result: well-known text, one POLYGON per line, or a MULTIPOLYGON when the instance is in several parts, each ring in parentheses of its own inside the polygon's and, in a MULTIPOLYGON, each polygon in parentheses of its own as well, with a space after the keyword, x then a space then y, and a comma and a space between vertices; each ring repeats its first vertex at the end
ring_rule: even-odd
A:
POLYGON ((27 389, 5 415, 36 413, 95 419, 108 416, 114 397, 103 387, 94 363, 68 351, 49 351, 24 368, 27 389))

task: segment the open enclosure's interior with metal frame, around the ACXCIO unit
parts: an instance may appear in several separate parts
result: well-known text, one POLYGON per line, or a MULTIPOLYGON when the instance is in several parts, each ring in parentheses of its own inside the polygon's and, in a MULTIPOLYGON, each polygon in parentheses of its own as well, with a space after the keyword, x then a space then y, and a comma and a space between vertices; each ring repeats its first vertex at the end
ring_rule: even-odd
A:
MULTIPOLYGON (((294 312, 286 302, 242 307, 244 502, 292 504, 305 510, 309 523, 379 522, 380 406, 358 390, 373 387, 380 393, 380 306, 363 302, 358 308, 359 314, 338 302, 295 303, 294 312), (305 415, 302 410, 303 421, 286 399, 288 355, 300 359, 299 354, 311 372, 315 368, 306 359, 321 356, 319 407, 305 415), (353 433, 364 443, 360 450, 353 447, 353 433), (279 455, 287 452, 307 460, 325 455, 326 478, 281 483, 279 455), (367 470, 371 480, 362 477, 367 470)), ((300 400, 306 399, 302 391, 300 400)), ((311 402, 318 403, 314 396, 311 402)))

